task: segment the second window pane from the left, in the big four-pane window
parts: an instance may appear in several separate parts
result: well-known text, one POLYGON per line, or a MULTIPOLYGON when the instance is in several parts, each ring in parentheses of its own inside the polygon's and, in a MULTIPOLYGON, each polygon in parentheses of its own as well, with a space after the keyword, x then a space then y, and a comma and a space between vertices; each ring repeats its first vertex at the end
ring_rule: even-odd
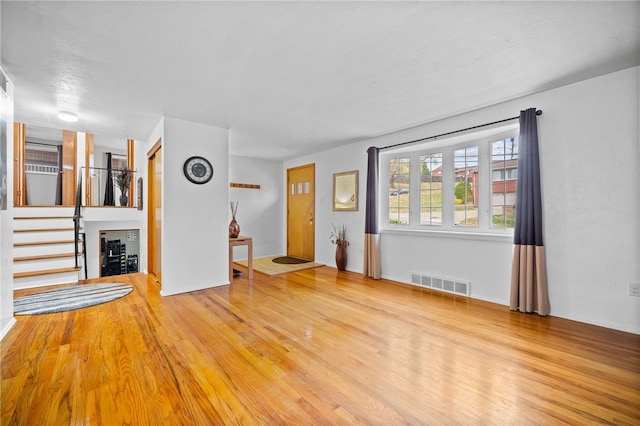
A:
POLYGON ((442 153, 420 157, 420 224, 442 225, 442 153))

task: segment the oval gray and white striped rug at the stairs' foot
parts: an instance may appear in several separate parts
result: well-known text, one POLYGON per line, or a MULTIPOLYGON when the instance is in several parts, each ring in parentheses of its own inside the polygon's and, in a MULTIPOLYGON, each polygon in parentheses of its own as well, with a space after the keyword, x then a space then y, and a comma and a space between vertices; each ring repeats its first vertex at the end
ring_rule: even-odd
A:
POLYGON ((15 315, 51 314, 111 302, 131 293, 125 284, 79 284, 47 290, 13 300, 15 315))

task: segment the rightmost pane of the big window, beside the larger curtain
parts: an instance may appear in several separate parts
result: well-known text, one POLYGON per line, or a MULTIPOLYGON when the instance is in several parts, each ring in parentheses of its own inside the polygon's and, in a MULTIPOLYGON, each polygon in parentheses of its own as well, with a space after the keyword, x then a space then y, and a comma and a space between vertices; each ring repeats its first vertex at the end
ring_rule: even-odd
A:
POLYGON ((518 138, 503 139, 491 144, 492 182, 491 226, 513 228, 515 224, 516 186, 518 178, 518 138), (506 176, 506 179, 505 179, 506 176))

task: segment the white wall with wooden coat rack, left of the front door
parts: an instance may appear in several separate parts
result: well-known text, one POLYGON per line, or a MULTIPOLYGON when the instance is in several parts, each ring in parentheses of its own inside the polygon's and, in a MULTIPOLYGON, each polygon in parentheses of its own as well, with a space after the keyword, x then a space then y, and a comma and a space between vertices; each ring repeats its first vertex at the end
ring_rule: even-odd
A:
MULTIPOLYGON (((253 239, 253 257, 283 254, 285 201, 282 162, 230 156, 229 181, 260 185, 260 189, 229 189, 229 200, 238 201, 236 220, 240 224, 240 233, 253 239)), ((228 224, 232 217, 229 207, 227 212, 228 224)), ((234 248, 234 259, 246 258, 246 246, 234 248)))

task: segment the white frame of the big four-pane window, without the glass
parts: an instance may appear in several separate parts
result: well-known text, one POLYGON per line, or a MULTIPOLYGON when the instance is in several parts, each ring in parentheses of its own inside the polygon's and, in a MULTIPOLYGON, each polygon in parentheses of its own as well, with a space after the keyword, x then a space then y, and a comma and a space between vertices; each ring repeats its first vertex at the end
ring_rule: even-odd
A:
POLYGON ((380 229, 388 233, 429 233, 430 235, 462 238, 482 237, 504 240, 513 236, 513 228, 494 228, 492 226, 492 143, 518 136, 519 125, 497 127, 480 132, 469 132, 431 142, 384 151, 380 154, 380 229), (478 147, 478 226, 464 227, 454 225, 455 164, 454 152, 457 149, 478 147), (420 158, 425 155, 442 153, 442 224, 420 223, 420 158), (409 223, 389 223, 389 160, 408 157, 409 170, 409 223))

